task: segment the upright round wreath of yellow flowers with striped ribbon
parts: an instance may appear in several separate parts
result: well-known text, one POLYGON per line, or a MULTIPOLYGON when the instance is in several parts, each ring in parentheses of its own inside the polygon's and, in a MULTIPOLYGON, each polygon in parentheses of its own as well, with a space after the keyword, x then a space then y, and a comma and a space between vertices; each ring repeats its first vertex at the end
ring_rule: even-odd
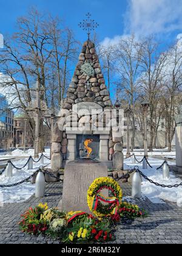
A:
POLYGON ((95 179, 87 191, 87 204, 90 211, 98 218, 117 213, 123 193, 118 183, 109 177, 95 179), (101 190, 109 190, 109 197, 103 196, 101 190), (111 194, 111 196, 110 196, 111 194), (107 204, 102 204, 101 201, 107 204))

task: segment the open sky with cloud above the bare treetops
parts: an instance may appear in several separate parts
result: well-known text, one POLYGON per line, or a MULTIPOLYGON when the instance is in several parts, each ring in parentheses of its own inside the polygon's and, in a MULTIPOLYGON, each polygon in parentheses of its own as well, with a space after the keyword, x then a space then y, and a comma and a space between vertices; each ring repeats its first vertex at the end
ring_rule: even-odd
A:
POLYGON ((87 36, 78 23, 87 12, 100 25, 96 30, 100 41, 135 32, 138 37, 154 34, 167 47, 182 33, 181 0, 0 0, 0 33, 14 32, 16 19, 32 5, 59 16, 80 41, 87 36))

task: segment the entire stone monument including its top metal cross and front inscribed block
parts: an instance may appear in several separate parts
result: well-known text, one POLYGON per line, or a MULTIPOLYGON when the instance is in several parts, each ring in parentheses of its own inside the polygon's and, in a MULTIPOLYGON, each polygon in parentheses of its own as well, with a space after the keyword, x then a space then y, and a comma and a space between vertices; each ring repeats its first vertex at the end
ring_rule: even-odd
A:
POLYGON ((106 177, 108 167, 123 168, 123 123, 120 126, 120 113, 113 109, 95 44, 89 39, 93 20, 84 22, 88 40, 79 54, 52 141, 52 170, 65 166, 59 203, 65 212, 89 212, 87 190, 93 180, 106 177))

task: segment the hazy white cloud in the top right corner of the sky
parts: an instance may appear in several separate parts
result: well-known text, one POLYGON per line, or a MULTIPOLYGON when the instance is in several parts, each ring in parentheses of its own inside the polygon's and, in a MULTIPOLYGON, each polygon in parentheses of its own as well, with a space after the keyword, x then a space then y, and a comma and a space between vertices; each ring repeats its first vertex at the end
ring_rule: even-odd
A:
POLYGON ((182 28, 181 0, 129 0, 126 32, 140 36, 182 28))

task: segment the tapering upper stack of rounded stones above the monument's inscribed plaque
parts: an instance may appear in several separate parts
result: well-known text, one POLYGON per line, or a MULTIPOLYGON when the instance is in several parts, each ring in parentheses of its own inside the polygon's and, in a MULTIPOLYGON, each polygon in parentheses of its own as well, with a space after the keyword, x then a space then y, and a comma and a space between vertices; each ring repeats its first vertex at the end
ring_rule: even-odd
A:
POLYGON ((86 41, 83 44, 81 54, 79 55, 79 62, 76 66, 72 82, 67 90, 67 98, 64 101, 63 108, 70 110, 72 104, 79 102, 96 102, 102 107, 112 107, 98 55, 95 51, 95 45, 91 41, 86 41), (90 63, 95 70, 94 76, 89 79, 89 83, 92 84, 91 91, 87 91, 85 87, 87 76, 83 75, 83 71, 81 71, 81 66, 84 63, 90 63))

